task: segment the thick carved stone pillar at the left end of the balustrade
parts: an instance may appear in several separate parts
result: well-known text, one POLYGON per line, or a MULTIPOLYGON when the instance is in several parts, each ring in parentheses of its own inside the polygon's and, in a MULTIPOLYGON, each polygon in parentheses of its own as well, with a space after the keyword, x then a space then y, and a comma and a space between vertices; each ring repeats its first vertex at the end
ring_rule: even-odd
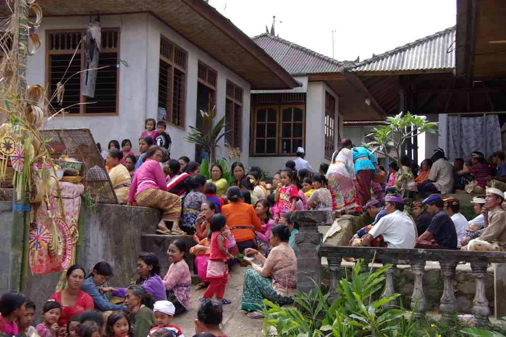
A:
POLYGON ((299 250, 297 290, 313 291, 320 285, 321 274, 321 258, 318 249, 322 242, 322 235, 318 232, 318 226, 327 223, 327 212, 301 210, 292 214, 291 221, 299 225, 299 232, 295 236, 295 243, 299 250))

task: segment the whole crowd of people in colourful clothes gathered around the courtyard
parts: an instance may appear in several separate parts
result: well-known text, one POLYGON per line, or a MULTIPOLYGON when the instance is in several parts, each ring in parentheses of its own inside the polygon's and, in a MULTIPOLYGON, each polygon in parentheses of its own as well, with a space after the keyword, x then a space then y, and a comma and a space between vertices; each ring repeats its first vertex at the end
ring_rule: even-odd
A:
POLYGON ((113 275, 107 262, 97 263, 88 275, 72 266, 66 287, 49 298, 41 310, 43 321, 35 327, 33 302, 8 291, 0 299, 1 332, 31 337, 183 336, 174 317, 189 309, 189 253, 193 272, 202 280, 198 288, 206 288, 195 331, 225 336, 219 324, 222 306, 231 303, 225 290, 232 266, 251 267, 241 303, 250 318, 263 317, 264 299, 280 305, 293 302, 298 225, 291 213, 296 210, 367 213, 374 221, 359 230, 350 245, 463 250, 506 246, 502 152, 487 161, 475 151, 467 165, 461 159, 452 165, 437 148, 421 167, 403 156, 400 167, 397 162, 388 166, 387 175, 374 153, 345 139, 331 164, 321 163, 318 172, 298 148, 296 158, 288 160, 272 181, 264 179, 260 167, 246 170, 243 163, 234 162, 229 186, 218 163, 204 173, 211 177, 206 179, 198 161, 186 156, 171 159, 171 138, 165 129, 163 121, 146 120, 138 158, 130 140, 123 140, 121 147, 111 141, 102 155, 119 202, 159 208, 162 218, 156 233, 190 235, 191 247, 172 241, 167 251, 170 267, 163 277, 159 258, 142 252, 139 279, 126 288, 104 286, 113 275), (476 218, 468 221, 459 213, 459 199, 445 196, 452 192, 475 194, 476 218), (425 197, 410 205, 414 217, 404 209, 406 198, 413 196, 425 197))

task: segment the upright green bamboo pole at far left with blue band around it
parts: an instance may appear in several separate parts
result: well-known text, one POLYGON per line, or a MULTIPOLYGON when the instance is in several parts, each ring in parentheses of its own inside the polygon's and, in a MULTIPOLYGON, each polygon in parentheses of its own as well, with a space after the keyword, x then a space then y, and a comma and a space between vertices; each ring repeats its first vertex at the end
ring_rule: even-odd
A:
MULTIPOLYGON (((26 106, 26 63, 27 63, 27 48, 28 48, 28 4, 26 0, 16 0, 14 3, 14 17, 16 20, 17 29, 17 46, 14 57, 16 60, 17 70, 17 88, 16 94, 19 103, 26 106)), ((16 40, 15 39, 15 40, 16 40)), ((24 110, 24 109, 23 109, 24 110)), ((21 182, 18 182, 21 183, 21 182)), ((21 288, 21 271, 23 265, 23 242, 25 235, 25 209, 26 209, 26 196, 24 191, 18 195, 16 187, 13 188, 12 198, 12 230, 11 230, 11 264, 9 273, 9 289, 19 290, 21 288)), ((24 244, 23 244, 24 243, 24 244)), ((24 289, 23 289, 24 290, 24 289)))

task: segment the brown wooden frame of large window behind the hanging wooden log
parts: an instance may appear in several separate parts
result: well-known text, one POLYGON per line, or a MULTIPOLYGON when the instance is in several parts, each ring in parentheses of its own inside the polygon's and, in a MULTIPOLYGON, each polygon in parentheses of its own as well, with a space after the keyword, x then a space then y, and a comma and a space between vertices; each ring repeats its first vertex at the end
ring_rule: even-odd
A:
MULTIPOLYGON (((120 50, 121 50, 121 28, 120 27, 107 27, 107 28, 101 28, 101 32, 109 32, 109 31, 115 31, 118 33, 118 44, 116 48, 110 48, 106 50, 100 50, 100 53, 116 53, 116 65, 120 64, 120 50)), ((50 66, 49 66, 49 59, 51 55, 68 55, 73 54, 75 50, 73 50, 71 53, 67 51, 50 51, 49 50, 49 36, 51 34, 55 33, 81 33, 81 47, 80 47, 80 53, 81 53, 81 70, 84 70, 85 67, 85 43, 84 43, 84 37, 86 35, 86 29, 48 29, 46 30, 46 83, 51 83, 51 72, 50 72, 50 66)), ((99 70, 100 71, 100 70, 99 70)), ((85 72, 82 71, 80 73, 80 86, 83 85, 83 76, 85 72)), ((49 85, 50 86, 50 85, 49 85)), ((80 89, 81 90, 81 89, 80 89)), ((51 94, 51 92, 49 92, 51 94)), ((93 99, 89 99, 93 100, 93 99)), ((87 113, 86 112, 86 103, 87 99, 85 96, 80 95, 81 105, 79 106, 79 113, 67 113, 65 116, 75 116, 75 117, 83 117, 83 116, 118 116, 119 115, 119 104, 120 104, 120 68, 116 66, 116 107, 114 113, 87 113)), ((57 114, 57 117, 63 116, 63 113, 57 114)))

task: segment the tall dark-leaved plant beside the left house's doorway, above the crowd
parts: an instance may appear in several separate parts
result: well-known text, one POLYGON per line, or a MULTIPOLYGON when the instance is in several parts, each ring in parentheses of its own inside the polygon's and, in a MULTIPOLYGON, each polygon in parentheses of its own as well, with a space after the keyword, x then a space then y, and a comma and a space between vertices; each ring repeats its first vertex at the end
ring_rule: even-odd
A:
POLYGON ((190 126, 191 131, 186 133, 185 140, 209 152, 209 162, 214 163, 216 162, 216 148, 219 147, 218 142, 231 130, 224 130, 225 116, 217 120, 216 107, 213 107, 209 112, 200 110, 200 114, 202 115, 202 128, 190 126))

